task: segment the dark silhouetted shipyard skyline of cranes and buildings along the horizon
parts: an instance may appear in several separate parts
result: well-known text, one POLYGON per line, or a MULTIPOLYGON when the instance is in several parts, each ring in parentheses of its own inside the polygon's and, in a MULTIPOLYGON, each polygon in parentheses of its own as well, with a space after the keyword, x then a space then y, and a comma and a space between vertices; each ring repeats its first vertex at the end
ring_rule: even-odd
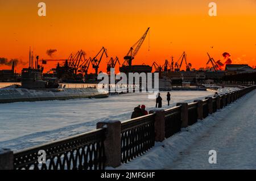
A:
MULTIPOLYGON (((46 82, 40 82, 40 80, 45 77, 46 79, 57 78, 59 82, 76 82, 76 83, 96 83, 97 75, 100 65, 102 63, 102 58, 109 58, 107 61, 106 73, 110 74, 110 69, 119 66, 119 71, 122 73, 159 73, 159 78, 163 82, 170 82, 171 85, 181 85, 182 82, 189 82, 192 84, 199 83, 212 83, 219 82, 227 75, 236 75, 240 73, 253 73, 255 70, 249 65, 234 65, 230 64, 231 61, 226 61, 224 64, 220 60, 215 61, 213 57, 207 52, 209 57, 207 61, 206 68, 201 70, 192 69, 192 64, 187 60, 187 54, 185 51, 181 54, 179 59, 175 62, 174 57, 171 57, 171 61, 165 60, 163 65, 158 64, 154 61, 152 65, 133 65, 133 60, 138 54, 142 47, 144 40, 146 39, 150 28, 148 27, 146 32, 143 33, 142 37, 135 42, 134 45, 130 47, 127 54, 123 57, 122 64, 120 59, 116 56, 115 58, 108 56, 108 51, 105 47, 102 47, 94 57, 86 57, 84 50, 77 51, 76 54, 70 54, 67 59, 58 60, 47 60, 42 59, 39 65, 39 56, 36 56, 36 60, 33 56, 33 52, 29 58, 29 67, 22 70, 23 82, 28 81, 26 79, 28 74, 33 74, 30 81, 37 80, 36 83, 41 83, 44 87, 46 82), (57 61, 56 68, 52 68, 46 73, 43 73, 43 65, 47 64, 48 61, 57 61), (60 62, 63 62, 61 65, 60 62), (185 65, 184 65, 185 64, 185 65), (222 70, 225 67, 225 70, 222 70), (185 70, 181 67, 185 66, 185 70), (94 70, 94 73, 88 73, 88 70, 94 70), (24 79, 25 77, 25 79, 24 79)), ((230 56, 229 53, 224 53, 223 56, 230 56)), ((0 71, 0 81, 2 82, 12 82, 19 81, 17 79, 18 74, 15 74, 14 62, 11 70, 1 70, 0 71)), ((30 77, 31 77, 30 76, 30 77)), ((167 83, 168 85, 168 83, 167 83)))

